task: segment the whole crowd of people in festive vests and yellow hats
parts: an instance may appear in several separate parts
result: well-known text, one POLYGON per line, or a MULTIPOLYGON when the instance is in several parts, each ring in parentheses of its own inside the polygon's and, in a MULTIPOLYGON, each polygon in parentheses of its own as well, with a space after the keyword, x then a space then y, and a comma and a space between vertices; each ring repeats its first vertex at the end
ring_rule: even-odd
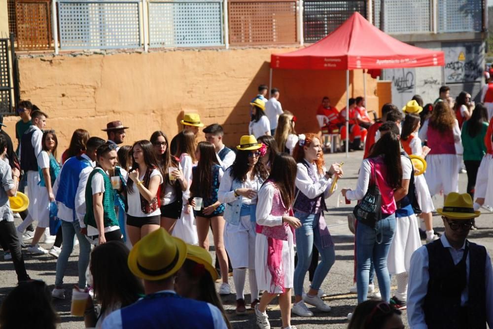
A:
MULTIPOLYGON (((330 312, 321 285, 336 257, 325 200, 339 193, 342 163, 325 164, 319 133, 296 133, 296 116, 282 110, 277 88, 269 100, 267 86, 258 90, 249 134, 233 149, 225 146, 220 124, 205 127, 199 114, 187 113, 171 141, 155 131, 149 140, 125 145, 129 127, 117 120, 103 129, 106 140, 77 129, 61 163, 56 132, 43 131, 48 115, 21 102, 17 151, 0 130, 0 244, 19 282, 2 302, 0 328, 55 328, 50 297, 66 298, 74 241, 74 289, 90 292, 86 328, 231 328, 219 297, 232 292, 230 272, 236 314, 247 314, 248 275, 248 306, 261 329, 271 328, 267 306, 275 297, 283 329, 295 328, 292 314, 330 312), (201 128, 206 141, 197 140, 201 128), (19 197, 24 186, 29 206, 19 211, 22 222, 15 227, 9 197, 19 197), (41 241, 53 246, 46 250, 41 241), (51 292, 29 277, 22 247, 58 258, 51 292), (20 316, 26 299, 38 308, 20 316)), ((364 145, 357 185, 341 189, 347 203, 359 200, 352 215, 351 290, 358 306, 348 315, 349 328, 404 328, 399 315, 405 308, 411 328, 492 327, 491 259, 466 239, 480 207, 493 204, 488 107, 472 103, 467 93, 452 102, 446 86, 435 104, 423 106, 418 95, 402 110, 385 104, 377 121, 363 98, 349 104, 339 112, 324 97, 317 111, 325 117, 323 129, 341 129, 354 148, 364 145), (468 183, 459 194, 462 162, 468 183), (444 195, 444 207, 436 210, 445 227, 441 236, 432 225, 436 194, 444 195), (367 300, 369 294, 379 300, 367 300)))

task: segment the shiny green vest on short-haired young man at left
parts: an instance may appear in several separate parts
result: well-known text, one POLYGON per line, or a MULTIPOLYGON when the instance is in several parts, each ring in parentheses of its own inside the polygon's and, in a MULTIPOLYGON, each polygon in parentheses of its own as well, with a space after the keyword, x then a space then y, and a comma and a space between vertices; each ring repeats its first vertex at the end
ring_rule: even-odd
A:
POLYGON ((89 174, 86 185, 86 215, 84 216, 84 224, 91 225, 93 227, 98 227, 96 225, 96 219, 94 218, 94 208, 93 208, 93 193, 92 193, 92 178, 96 173, 103 175, 105 181, 105 192, 103 193, 103 221, 105 227, 108 226, 119 226, 118 219, 116 218, 115 207, 114 207, 114 196, 113 187, 111 186, 111 181, 103 171, 103 169, 97 167, 89 174))

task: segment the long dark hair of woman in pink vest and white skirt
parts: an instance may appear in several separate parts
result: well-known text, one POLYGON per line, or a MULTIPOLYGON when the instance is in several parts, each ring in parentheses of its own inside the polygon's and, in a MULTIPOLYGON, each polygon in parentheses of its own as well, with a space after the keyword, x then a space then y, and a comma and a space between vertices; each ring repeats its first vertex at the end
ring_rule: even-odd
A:
MULTIPOLYGON (((289 208, 294 201, 294 181, 296 180, 296 162, 286 153, 278 153, 271 165, 271 174, 267 181, 272 181, 279 189, 284 206, 289 208)), ((265 181, 264 184, 267 182, 265 181)))

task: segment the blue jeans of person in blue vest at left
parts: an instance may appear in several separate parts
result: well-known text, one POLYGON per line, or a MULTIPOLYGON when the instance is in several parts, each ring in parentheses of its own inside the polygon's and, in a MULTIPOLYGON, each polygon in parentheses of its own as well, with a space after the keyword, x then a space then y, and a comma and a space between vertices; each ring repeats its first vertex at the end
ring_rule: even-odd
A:
POLYGON ((62 288, 63 277, 67 263, 69 262, 69 256, 73 250, 73 237, 77 235, 79 240, 79 288, 84 289, 86 287, 86 269, 89 265, 89 254, 91 254, 91 244, 86 239, 86 236, 80 233, 80 224, 78 220, 66 221, 62 220, 62 251, 57 260, 57 272, 55 277, 55 287, 62 288))

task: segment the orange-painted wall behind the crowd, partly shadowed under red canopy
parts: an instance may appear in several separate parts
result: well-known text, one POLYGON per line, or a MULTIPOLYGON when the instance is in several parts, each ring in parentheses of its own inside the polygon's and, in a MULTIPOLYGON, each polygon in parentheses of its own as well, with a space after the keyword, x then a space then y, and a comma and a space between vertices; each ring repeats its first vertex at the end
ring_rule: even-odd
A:
MULTIPOLYGON (((294 49, 22 56, 21 98, 48 113, 61 148, 76 128, 106 137, 101 129, 117 119, 130 127, 126 144, 158 129, 172 137, 184 112, 198 112, 205 124, 223 124, 225 143, 236 145, 248 130, 249 101, 259 84, 269 83, 270 54, 294 49)), ((366 75, 368 107, 376 110, 376 81, 366 75)), ((351 96, 363 94, 362 79, 361 71, 351 73, 351 96)), ((345 106, 345 81, 345 72, 275 70, 273 86, 281 89, 283 109, 299 118, 296 130, 302 133, 318 130, 315 112, 322 96, 338 109, 345 106)), ((11 136, 16 119, 5 118, 11 136)))

